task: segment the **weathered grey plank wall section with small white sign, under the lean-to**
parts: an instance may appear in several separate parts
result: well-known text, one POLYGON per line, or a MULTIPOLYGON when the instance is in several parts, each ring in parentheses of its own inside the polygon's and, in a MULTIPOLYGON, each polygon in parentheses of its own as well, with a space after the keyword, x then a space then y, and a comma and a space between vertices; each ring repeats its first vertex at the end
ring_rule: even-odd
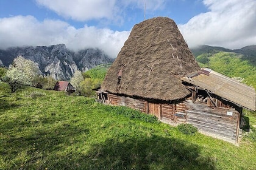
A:
POLYGON ((196 104, 187 100, 187 123, 196 126, 199 131, 236 143, 238 139, 239 113, 233 109, 208 107, 207 104, 196 104), (227 112, 232 115, 227 115, 227 112))

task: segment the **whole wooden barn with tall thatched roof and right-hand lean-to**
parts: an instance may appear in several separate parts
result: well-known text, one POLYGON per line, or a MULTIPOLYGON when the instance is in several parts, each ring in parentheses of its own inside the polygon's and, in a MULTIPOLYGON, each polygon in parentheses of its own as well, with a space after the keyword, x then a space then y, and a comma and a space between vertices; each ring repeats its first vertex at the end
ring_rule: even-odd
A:
POLYGON ((255 90, 210 69, 201 69, 169 18, 133 27, 98 91, 104 103, 153 114, 176 126, 238 142, 242 108, 255 110, 255 90))

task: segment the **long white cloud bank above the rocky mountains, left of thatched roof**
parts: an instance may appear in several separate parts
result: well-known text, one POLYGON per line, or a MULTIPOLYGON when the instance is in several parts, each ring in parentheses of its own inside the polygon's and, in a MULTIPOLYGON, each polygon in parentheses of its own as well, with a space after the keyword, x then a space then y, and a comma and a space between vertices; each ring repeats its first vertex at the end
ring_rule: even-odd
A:
POLYGON ((64 43, 73 50, 99 48, 114 58, 130 33, 87 25, 82 29, 76 29, 59 20, 45 19, 39 22, 33 16, 0 18, 0 25, 0 37, 4 39, 0 41, 2 49, 12 46, 50 46, 64 43))

